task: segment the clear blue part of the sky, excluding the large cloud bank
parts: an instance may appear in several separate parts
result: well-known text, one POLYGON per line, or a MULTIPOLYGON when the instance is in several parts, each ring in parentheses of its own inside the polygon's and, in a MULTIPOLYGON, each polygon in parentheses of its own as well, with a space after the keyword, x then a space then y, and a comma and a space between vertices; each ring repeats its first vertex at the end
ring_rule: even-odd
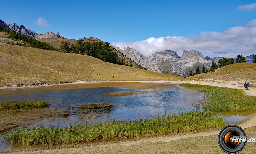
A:
MULTIPOLYGON (((13 22, 17 25, 22 24, 37 33, 52 30, 70 39, 79 39, 84 36, 96 37, 104 42, 108 41, 123 47, 126 44, 135 46, 133 42, 147 40, 150 37, 198 38, 202 35, 201 32, 221 33, 228 28, 244 26, 256 19, 255 3, 256 1, 249 0, 1 1, 0 19, 6 24, 13 22), (121 43, 123 46, 120 45, 121 43)), ((172 46, 153 48, 151 52, 168 50, 167 48, 172 46)), ((179 55, 183 51, 182 47, 169 50, 181 52, 179 55)), ((191 49, 186 46, 184 50, 191 49)), ((207 48, 194 50, 200 50, 204 55, 209 53, 209 56, 236 54, 235 51, 231 53, 231 50, 231 54, 224 50, 217 53, 207 48)), ((142 48, 139 51, 143 54, 151 53, 142 48)), ((256 52, 255 49, 251 52, 254 51, 256 52)), ((249 51, 245 56, 247 54, 249 51)))

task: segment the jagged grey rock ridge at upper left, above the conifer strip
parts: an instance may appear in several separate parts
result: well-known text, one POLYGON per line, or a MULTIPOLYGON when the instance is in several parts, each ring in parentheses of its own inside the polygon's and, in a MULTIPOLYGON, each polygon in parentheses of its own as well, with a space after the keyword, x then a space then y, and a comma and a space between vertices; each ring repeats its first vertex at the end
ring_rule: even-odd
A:
POLYGON ((64 38, 63 36, 60 36, 60 34, 58 32, 56 34, 54 34, 52 31, 51 32, 47 32, 45 34, 39 34, 39 33, 36 33, 33 30, 30 30, 28 28, 26 29, 23 25, 18 26, 15 23, 13 23, 11 25, 10 24, 6 25, 6 23, 4 21, 2 21, 2 20, 0 20, 0 26, 8 28, 11 31, 14 30, 16 33, 20 33, 20 34, 24 34, 24 35, 29 36, 29 37, 33 37, 36 40, 43 39, 43 38, 54 38, 54 37, 57 37, 57 38, 62 37, 62 38, 64 38))

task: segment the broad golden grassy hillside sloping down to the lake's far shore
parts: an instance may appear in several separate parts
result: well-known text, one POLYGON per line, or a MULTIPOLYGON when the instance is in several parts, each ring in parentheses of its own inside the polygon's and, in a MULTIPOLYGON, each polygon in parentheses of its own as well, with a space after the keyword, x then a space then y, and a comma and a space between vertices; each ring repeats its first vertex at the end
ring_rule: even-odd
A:
POLYGON ((91 56, 5 43, 0 43, 0 69, 0 86, 41 84, 43 82, 64 83, 76 82, 77 80, 131 81, 184 79, 180 76, 111 64, 91 56), (100 73, 100 75, 96 75, 96 73, 100 73))

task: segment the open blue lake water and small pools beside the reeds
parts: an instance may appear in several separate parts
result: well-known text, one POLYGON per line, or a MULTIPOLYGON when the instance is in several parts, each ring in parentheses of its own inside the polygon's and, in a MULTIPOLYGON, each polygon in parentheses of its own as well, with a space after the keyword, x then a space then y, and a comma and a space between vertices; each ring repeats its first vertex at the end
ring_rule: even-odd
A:
MULTIPOLYGON (((49 107, 32 109, 32 111, 50 112, 54 115, 44 116, 27 127, 69 124, 96 123, 99 121, 134 120, 172 115, 196 110, 189 103, 203 99, 204 93, 178 85, 157 87, 157 89, 128 88, 84 88, 84 89, 4 89, 0 90, 0 102, 6 101, 45 101, 49 107), (110 92, 151 91, 136 93, 137 95, 110 96, 110 92), (89 104, 114 104, 101 107, 84 107, 89 104)), ((31 111, 31 110, 29 110, 31 111)), ((13 113, 22 114, 22 113, 13 113)), ((224 118, 226 123, 234 123, 249 117, 250 113, 215 112, 224 118)), ((0 138, 1 142, 2 138, 0 138)), ((6 144, 6 142, 5 142, 6 144)), ((15 149, 10 145, 1 145, 0 151, 15 149)))

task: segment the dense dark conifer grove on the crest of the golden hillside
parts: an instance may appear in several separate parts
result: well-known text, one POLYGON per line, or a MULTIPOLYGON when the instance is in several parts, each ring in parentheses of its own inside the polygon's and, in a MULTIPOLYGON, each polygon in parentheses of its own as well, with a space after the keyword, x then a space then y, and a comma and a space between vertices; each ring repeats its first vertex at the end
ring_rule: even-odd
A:
POLYGON ((69 41, 61 41, 60 49, 67 53, 92 56, 113 64, 132 66, 131 62, 127 64, 124 59, 120 58, 108 42, 104 44, 101 42, 90 43, 84 42, 84 40, 80 38, 76 41, 75 45, 70 45, 69 41))

